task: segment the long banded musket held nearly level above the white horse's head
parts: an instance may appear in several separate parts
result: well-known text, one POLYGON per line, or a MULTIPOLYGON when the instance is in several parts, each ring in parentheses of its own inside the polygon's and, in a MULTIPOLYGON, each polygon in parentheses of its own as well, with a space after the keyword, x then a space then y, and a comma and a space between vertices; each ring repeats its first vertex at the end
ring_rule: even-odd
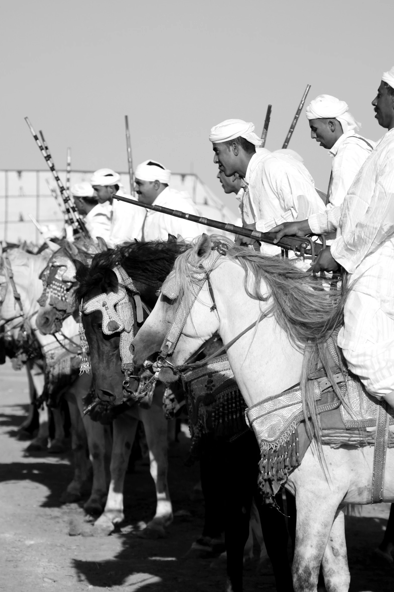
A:
POLYGON ((317 252, 319 247, 321 247, 321 245, 318 243, 315 244, 308 237, 298 238, 285 236, 280 242, 274 243, 273 239, 275 239, 275 233, 273 232, 259 232, 258 230, 249 230, 248 228, 243 228, 242 226, 235 226, 235 224, 226 224, 225 222, 219 222, 219 220, 210 220, 209 218, 203 218, 194 214, 187 214, 185 212, 181 212, 180 210, 171 210, 170 208, 165 208, 162 205, 143 204, 140 201, 129 200, 129 198, 122 197, 118 194, 113 195, 113 198, 115 200, 125 201, 126 204, 138 205, 138 207, 145 208, 146 210, 154 210, 155 212, 161 212, 162 214, 175 216, 175 218, 183 218, 184 220, 190 220, 191 222, 204 224, 204 226, 211 226, 213 228, 224 230, 233 234, 240 234, 241 236, 246 236, 249 239, 259 240, 262 243, 274 244, 276 247, 281 247, 281 249, 284 250, 294 250, 301 253, 301 255, 304 255, 304 253, 307 252, 307 249, 310 248, 312 258, 314 258, 315 252, 317 252))

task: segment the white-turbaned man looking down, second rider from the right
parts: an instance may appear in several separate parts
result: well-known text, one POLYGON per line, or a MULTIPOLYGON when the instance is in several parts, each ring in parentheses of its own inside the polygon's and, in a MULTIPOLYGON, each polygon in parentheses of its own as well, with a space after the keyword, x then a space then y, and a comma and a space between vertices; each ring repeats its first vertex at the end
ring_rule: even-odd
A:
POLYGON ((306 110, 311 138, 328 149, 333 159, 327 191, 327 207, 341 205, 354 177, 375 148, 375 142, 356 134, 360 124, 354 120, 345 101, 319 95, 306 110))

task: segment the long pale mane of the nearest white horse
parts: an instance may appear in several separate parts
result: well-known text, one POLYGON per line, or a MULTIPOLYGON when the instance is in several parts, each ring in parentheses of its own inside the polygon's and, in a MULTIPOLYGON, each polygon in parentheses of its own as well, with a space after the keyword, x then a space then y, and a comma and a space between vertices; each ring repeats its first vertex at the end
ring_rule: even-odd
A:
MULTIPOLYGON (((197 244, 199 238, 194 239, 193 244, 197 244)), ((341 290, 327 290, 320 278, 301 271, 294 263, 236 246, 223 236, 211 236, 211 239, 213 244, 224 244, 227 258, 245 271, 246 294, 270 304, 268 313, 275 317, 292 345, 304 352, 300 384, 304 395, 304 415, 305 418, 311 417, 311 422, 307 419, 305 424, 308 433, 312 435, 314 431, 320 440, 314 381, 308 377, 319 365, 323 365, 331 377, 332 371, 324 344, 343 324, 343 307, 347 294, 344 282, 341 290), (268 288, 268 294, 264 287, 268 288)), ((193 266, 189 257, 190 252, 182 253, 175 261, 172 272, 179 289, 177 301, 185 298, 186 301, 189 300, 186 305, 191 305, 193 297, 190 282, 196 282, 194 276, 201 274, 201 268, 193 266)), ((211 269, 207 268, 206 271, 210 272, 211 269)), ((342 400, 337 385, 334 388, 342 400)))

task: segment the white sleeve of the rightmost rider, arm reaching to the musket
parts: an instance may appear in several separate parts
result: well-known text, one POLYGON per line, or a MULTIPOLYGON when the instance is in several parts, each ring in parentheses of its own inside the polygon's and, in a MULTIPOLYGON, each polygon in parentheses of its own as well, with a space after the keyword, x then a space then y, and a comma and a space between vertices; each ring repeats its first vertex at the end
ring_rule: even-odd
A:
POLYGON ((343 202, 341 234, 331 244, 331 255, 350 274, 394 235, 394 167, 390 156, 379 164, 369 204, 350 192, 343 202))

